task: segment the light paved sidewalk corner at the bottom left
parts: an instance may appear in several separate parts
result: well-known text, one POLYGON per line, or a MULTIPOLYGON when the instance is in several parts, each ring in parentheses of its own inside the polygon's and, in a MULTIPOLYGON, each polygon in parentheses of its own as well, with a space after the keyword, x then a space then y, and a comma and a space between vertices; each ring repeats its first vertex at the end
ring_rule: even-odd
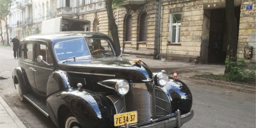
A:
POLYGON ((0 96, 0 128, 26 128, 0 96))

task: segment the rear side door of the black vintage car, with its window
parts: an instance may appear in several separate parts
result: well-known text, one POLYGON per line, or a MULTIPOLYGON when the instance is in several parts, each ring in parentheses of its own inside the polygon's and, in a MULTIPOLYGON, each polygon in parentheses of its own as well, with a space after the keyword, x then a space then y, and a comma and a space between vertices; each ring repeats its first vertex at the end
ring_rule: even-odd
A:
POLYGON ((23 63, 22 67, 25 70, 25 73, 28 77, 28 82, 32 89, 36 92, 35 86, 35 77, 34 71, 36 71, 33 67, 33 44, 31 41, 25 41, 22 45, 21 55, 19 58, 19 62, 23 63))

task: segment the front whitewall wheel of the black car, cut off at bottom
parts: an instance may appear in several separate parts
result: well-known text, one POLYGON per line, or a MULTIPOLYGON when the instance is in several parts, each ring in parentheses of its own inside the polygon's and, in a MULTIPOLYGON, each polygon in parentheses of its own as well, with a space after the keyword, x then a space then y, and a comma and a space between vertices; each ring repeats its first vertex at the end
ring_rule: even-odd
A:
POLYGON ((71 112, 69 112, 65 119, 65 128, 83 128, 83 127, 78 123, 74 115, 71 112))

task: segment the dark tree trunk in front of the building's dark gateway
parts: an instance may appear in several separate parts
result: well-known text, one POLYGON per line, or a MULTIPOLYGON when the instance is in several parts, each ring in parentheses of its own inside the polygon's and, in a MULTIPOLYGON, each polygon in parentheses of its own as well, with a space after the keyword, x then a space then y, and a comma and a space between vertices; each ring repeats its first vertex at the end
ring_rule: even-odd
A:
MULTIPOLYGON (((237 61, 237 45, 238 45, 238 23, 234 11, 234 0, 226 0, 226 19, 227 19, 227 57, 231 61, 237 61)), ((229 69, 225 68, 225 74, 229 69)))

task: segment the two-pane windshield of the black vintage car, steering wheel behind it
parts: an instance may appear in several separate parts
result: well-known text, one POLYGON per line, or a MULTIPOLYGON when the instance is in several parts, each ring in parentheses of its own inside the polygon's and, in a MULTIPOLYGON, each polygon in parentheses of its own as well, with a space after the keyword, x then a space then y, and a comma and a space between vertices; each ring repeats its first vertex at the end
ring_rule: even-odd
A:
POLYGON ((85 38, 59 42, 54 45, 58 60, 83 56, 114 55, 109 41, 98 38, 85 38))

